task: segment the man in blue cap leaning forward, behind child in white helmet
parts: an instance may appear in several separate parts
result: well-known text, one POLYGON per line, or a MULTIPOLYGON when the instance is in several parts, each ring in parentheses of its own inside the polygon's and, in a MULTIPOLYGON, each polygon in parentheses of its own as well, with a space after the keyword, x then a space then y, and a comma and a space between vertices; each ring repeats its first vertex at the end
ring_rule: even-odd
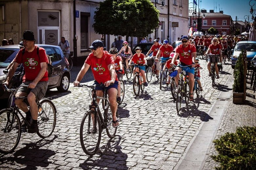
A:
MULTIPOLYGON (((161 65, 160 65, 160 61, 158 61, 159 59, 161 60, 168 60, 170 57, 170 54, 173 52, 173 47, 171 45, 169 45, 169 41, 168 40, 164 40, 163 45, 159 48, 157 55, 156 55, 156 77, 158 78, 159 75, 159 71, 161 69, 161 65)), ((162 63, 164 61, 161 61, 162 63)))

